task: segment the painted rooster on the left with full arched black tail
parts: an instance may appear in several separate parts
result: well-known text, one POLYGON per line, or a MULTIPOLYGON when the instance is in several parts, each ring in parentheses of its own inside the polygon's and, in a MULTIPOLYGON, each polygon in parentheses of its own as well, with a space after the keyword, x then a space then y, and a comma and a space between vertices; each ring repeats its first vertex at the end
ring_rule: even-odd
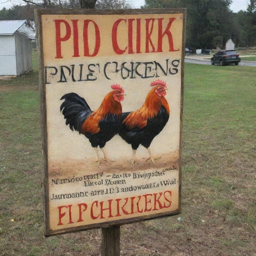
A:
POLYGON ((103 99, 100 107, 92 111, 86 100, 76 93, 67 93, 60 100, 65 100, 60 111, 66 119, 66 125, 70 129, 78 131, 86 136, 95 149, 98 161, 101 162, 98 146, 104 154, 104 159, 111 162, 105 151, 105 144, 111 140, 120 130, 124 90, 119 84, 111 86, 113 91, 109 92, 103 99))

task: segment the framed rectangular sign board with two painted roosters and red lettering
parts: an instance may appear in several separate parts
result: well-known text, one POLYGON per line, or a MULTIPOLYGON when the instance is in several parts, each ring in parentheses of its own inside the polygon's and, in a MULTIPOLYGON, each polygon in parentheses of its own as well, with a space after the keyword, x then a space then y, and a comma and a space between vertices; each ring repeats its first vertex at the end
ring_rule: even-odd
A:
POLYGON ((45 235, 180 213, 185 9, 37 9, 45 235))

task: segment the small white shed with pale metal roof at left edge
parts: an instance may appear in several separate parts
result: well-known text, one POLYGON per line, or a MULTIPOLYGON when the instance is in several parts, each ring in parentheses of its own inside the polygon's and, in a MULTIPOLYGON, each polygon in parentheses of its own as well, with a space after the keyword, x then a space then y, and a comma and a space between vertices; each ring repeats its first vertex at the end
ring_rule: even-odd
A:
POLYGON ((18 31, 26 20, 0 21, 0 76, 32 71, 31 40, 18 31))

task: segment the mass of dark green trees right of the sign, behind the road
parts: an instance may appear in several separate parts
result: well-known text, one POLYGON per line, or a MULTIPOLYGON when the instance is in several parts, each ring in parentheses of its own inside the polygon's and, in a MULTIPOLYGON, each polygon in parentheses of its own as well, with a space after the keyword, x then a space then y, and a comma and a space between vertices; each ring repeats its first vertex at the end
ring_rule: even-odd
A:
POLYGON ((187 8, 186 46, 212 49, 230 38, 240 47, 255 44, 255 2, 238 13, 230 10, 232 0, 146 0, 144 8, 187 8))

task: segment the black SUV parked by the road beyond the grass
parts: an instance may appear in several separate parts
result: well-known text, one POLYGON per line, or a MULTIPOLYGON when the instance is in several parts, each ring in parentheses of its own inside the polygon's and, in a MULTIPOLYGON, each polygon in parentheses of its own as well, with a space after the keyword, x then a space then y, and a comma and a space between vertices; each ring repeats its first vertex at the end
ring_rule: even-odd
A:
POLYGON ((235 50, 221 50, 218 51, 216 54, 211 57, 211 65, 214 64, 220 64, 220 66, 226 65, 226 64, 235 64, 238 65, 238 63, 241 61, 239 58, 238 53, 235 50))

